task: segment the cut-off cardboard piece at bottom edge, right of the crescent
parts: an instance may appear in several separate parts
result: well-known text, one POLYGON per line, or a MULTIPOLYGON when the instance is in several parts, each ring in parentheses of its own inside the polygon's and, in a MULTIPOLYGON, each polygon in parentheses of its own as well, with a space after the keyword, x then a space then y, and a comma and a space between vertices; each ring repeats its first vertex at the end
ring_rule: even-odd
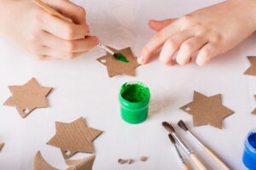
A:
POLYGON ((92 155, 80 160, 65 160, 69 166, 67 170, 92 170, 96 156, 92 155))

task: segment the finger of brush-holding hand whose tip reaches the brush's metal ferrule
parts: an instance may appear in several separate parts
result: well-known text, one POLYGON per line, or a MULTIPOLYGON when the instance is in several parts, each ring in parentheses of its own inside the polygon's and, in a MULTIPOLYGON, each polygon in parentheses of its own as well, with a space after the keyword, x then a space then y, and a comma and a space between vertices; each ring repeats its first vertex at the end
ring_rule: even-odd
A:
POLYGON ((85 39, 78 40, 63 40, 59 37, 55 37, 54 35, 49 34, 49 32, 44 31, 41 41, 44 46, 49 48, 64 52, 77 53, 88 51, 90 48, 94 48, 99 42, 99 39, 97 37, 87 37, 85 39))

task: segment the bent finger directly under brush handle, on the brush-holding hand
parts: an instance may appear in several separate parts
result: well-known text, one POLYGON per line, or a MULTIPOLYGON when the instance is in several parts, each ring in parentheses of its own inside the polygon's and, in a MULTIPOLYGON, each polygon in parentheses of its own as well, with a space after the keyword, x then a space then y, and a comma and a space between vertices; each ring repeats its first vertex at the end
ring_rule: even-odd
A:
POLYGON ((48 31, 62 39, 81 39, 88 34, 88 27, 86 25, 71 24, 49 14, 44 14, 42 21, 44 31, 48 31))

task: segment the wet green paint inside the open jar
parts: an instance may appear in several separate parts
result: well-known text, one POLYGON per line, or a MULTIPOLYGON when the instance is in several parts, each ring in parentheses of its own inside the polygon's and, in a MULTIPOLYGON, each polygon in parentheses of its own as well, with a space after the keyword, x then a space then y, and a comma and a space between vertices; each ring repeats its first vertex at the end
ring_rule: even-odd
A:
POLYGON ((125 84, 121 95, 131 103, 138 103, 144 101, 148 96, 149 92, 147 89, 141 84, 125 84))

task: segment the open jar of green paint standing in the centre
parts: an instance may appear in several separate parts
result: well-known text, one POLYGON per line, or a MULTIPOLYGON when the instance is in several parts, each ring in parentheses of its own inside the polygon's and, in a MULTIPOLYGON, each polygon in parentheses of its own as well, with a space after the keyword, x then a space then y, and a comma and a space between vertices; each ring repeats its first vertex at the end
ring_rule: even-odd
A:
POLYGON ((149 88, 142 82, 126 82, 119 91, 121 116, 125 122, 137 124, 148 116, 149 88))

